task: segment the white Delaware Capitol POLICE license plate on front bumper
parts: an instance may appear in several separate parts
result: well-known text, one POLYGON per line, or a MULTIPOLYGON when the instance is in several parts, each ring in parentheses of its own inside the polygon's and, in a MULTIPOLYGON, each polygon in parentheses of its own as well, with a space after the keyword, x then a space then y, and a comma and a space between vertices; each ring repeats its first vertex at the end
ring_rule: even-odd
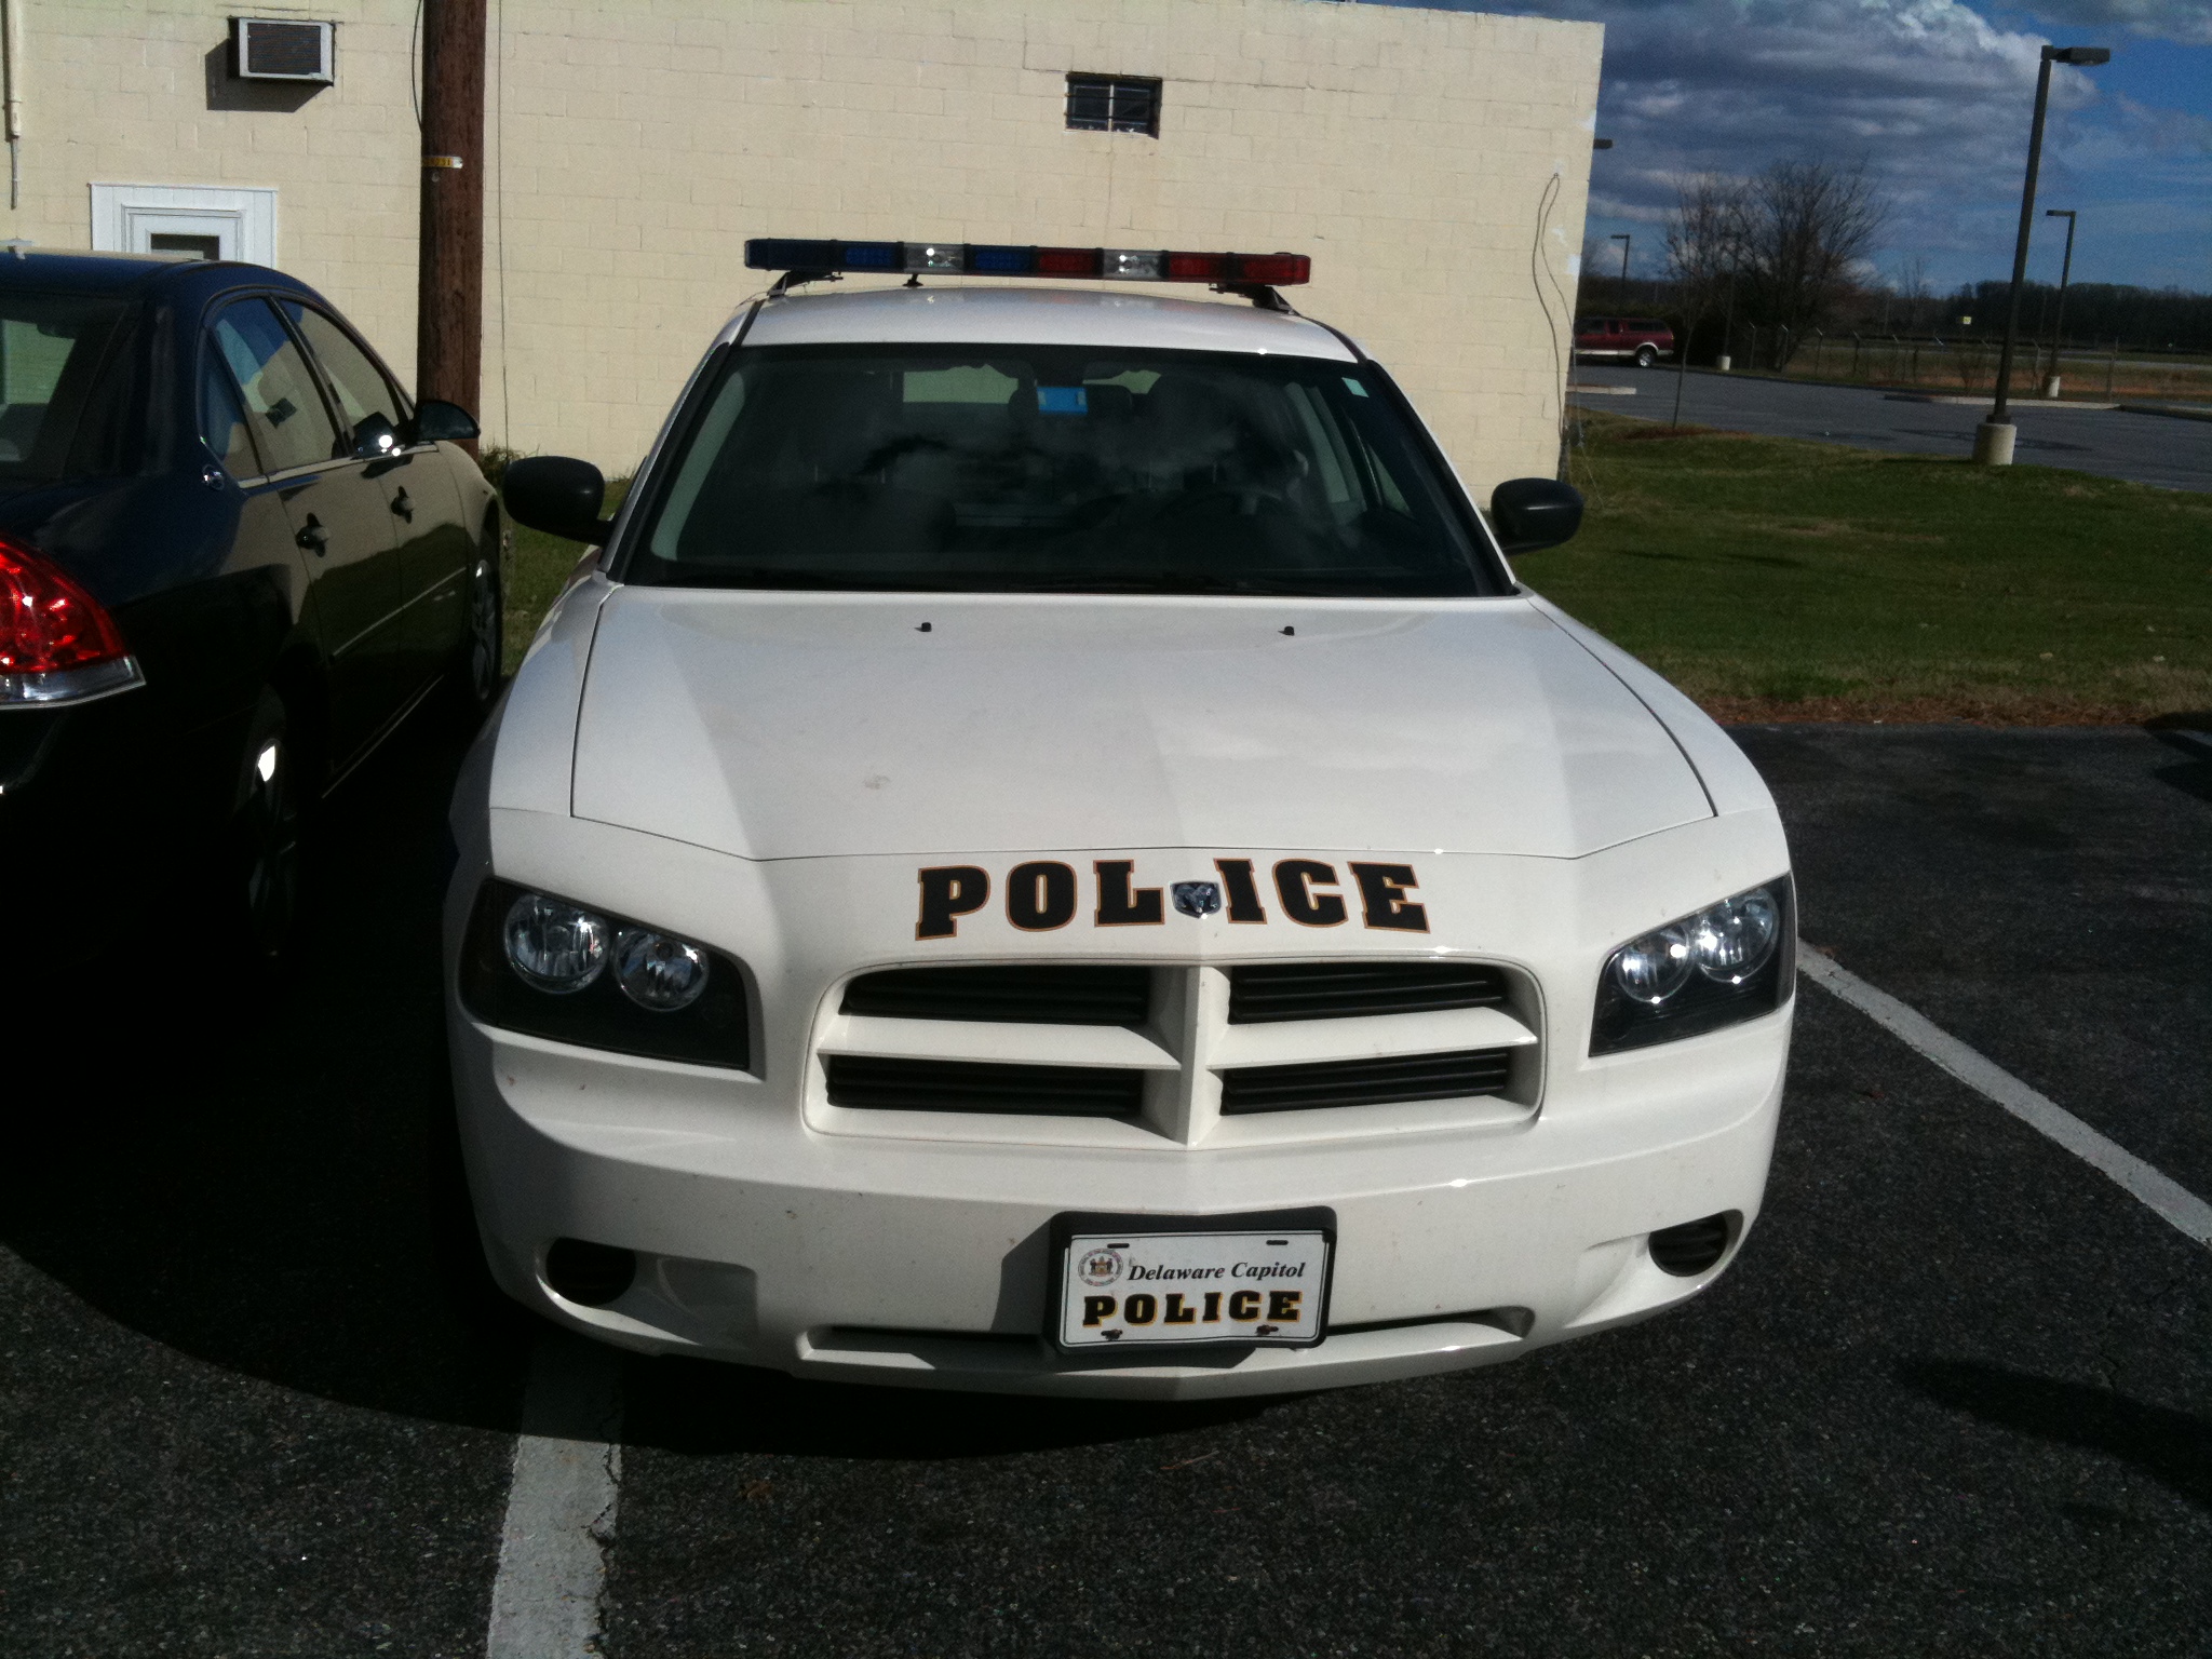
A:
POLYGON ((1314 1347, 1327 1329, 1334 1210, 1053 1221, 1064 1349, 1314 1347))

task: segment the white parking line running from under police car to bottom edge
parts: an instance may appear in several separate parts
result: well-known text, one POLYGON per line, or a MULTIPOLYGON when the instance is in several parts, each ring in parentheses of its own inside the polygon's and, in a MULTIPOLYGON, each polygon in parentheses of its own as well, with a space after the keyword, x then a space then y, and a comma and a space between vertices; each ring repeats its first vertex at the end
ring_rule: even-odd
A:
POLYGON ((531 1354, 484 1659, 599 1652, 622 1491, 622 1354, 546 1332, 531 1354))

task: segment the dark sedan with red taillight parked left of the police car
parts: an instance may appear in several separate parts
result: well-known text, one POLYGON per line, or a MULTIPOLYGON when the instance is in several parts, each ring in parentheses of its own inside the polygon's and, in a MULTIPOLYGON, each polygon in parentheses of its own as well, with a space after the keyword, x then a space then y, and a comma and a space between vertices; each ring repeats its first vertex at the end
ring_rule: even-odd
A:
MULTIPOLYGON (((18 960, 117 894, 212 894, 257 951, 299 818, 447 688, 500 684, 500 515, 312 288, 0 257, 0 849, 18 960)), ((139 911, 144 914, 144 911, 139 911)))

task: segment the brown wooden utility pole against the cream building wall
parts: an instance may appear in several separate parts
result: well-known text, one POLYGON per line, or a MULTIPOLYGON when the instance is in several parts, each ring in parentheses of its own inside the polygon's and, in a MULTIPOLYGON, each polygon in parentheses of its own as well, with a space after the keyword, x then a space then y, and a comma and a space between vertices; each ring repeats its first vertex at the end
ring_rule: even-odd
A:
POLYGON ((458 403, 476 416, 482 367, 484 0, 422 0, 416 398, 458 403))

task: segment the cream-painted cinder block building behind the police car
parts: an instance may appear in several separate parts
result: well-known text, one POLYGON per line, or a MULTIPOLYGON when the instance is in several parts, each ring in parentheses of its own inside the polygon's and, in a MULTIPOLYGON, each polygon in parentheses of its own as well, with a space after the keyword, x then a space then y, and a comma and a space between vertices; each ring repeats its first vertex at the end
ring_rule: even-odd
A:
MULTIPOLYGON (((409 376, 414 0, 250 13, 327 24, 327 80, 250 73, 215 0, 7 9, 9 234, 283 265, 409 376)), ((491 0, 478 416, 635 465, 748 237, 1292 250, 1469 484, 1548 473, 1599 46, 1345 0, 491 0)))

